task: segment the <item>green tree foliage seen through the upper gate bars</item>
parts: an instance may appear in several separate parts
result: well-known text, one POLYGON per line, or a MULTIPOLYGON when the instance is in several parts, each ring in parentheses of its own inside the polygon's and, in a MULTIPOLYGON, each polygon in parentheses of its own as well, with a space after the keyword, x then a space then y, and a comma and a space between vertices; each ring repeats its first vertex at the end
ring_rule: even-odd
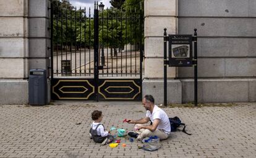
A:
MULTIPOLYGON (((111 2, 112 5, 117 5, 114 3, 119 2, 119 6, 99 12, 100 46, 124 48, 125 44, 139 43, 140 34, 143 33, 143 15, 140 15, 143 13, 140 10, 142 0, 111 2)), ((55 46, 93 47, 94 19, 88 11, 88 8, 76 9, 67 0, 53 0, 55 46)), ((92 12, 93 9, 91 14, 92 12)))

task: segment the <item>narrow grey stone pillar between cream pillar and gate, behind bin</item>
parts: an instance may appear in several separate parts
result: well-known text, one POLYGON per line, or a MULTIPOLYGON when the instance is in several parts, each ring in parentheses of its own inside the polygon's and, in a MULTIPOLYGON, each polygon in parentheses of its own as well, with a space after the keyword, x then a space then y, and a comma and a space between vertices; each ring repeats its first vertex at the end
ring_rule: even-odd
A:
MULTIPOLYGON (((45 69, 50 73, 51 40, 49 0, 29 1, 29 69, 45 69)), ((48 102, 50 99, 50 82, 48 80, 48 102)))

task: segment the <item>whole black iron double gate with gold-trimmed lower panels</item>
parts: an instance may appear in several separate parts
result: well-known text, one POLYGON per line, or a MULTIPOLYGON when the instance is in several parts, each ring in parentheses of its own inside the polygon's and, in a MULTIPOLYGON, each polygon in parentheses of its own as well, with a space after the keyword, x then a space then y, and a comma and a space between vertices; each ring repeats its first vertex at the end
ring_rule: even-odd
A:
POLYGON ((143 14, 51 3, 51 98, 141 100, 143 14))

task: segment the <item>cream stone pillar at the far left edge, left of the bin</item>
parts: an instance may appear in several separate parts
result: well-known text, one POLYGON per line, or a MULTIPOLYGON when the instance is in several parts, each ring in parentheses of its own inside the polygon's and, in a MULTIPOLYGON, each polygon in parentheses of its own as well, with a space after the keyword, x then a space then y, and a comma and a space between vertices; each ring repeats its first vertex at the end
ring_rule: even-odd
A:
POLYGON ((28 0, 0 1, 0 104, 28 103, 28 0))

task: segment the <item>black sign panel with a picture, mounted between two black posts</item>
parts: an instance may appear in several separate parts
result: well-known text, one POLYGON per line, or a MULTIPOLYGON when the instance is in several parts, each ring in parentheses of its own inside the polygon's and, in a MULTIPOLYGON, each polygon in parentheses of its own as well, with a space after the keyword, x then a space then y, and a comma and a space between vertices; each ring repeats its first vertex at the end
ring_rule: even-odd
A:
POLYGON ((169 35, 169 66, 192 66, 192 35, 169 35))

